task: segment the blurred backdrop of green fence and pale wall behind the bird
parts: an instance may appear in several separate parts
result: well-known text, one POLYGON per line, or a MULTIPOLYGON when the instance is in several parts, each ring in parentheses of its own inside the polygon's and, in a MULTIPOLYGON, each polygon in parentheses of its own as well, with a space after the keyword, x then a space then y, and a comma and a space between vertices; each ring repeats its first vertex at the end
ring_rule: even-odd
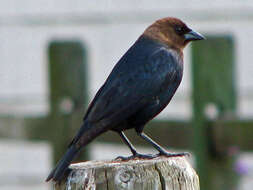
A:
MULTIPOLYGON (((169 150, 192 153, 201 189, 252 189, 252 1, 2 0, 1 190, 51 189, 44 180, 96 91, 144 29, 167 16, 207 40, 185 49, 181 86, 145 131, 169 150)), ((118 155, 130 152, 108 132, 77 160, 118 155)))

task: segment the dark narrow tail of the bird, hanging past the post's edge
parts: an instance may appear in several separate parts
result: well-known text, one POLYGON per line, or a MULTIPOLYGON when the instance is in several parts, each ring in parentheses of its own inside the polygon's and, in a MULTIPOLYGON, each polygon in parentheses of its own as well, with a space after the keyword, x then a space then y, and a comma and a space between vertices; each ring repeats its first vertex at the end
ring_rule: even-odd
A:
POLYGON ((56 167, 51 171, 46 181, 53 179, 54 181, 59 181, 63 177, 64 173, 68 169, 71 161, 74 159, 76 154, 79 152, 80 148, 76 148, 72 145, 68 148, 67 152, 63 158, 57 163, 56 167))

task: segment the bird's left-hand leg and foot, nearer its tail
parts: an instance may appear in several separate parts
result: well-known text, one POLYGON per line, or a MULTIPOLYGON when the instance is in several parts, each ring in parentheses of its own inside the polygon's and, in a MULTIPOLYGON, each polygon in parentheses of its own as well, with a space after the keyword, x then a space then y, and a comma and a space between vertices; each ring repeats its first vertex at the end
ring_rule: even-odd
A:
POLYGON ((119 132, 119 136, 121 137, 121 139, 123 140, 123 142, 129 147, 129 149, 131 150, 132 152, 132 156, 128 156, 128 157, 124 157, 124 156, 118 156, 116 158, 116 160, 118 159, 121 159, 121 160, 130 160, 130 159, 133 159, 133 158, 154 158, 155 156, 153 155, 149 155, 149 154, 139 154, 137 151, 136 151, 136 148, 132 145, 132 143, 128 140, 128 138, 126 137, 126 135, 120 131, 119 132))

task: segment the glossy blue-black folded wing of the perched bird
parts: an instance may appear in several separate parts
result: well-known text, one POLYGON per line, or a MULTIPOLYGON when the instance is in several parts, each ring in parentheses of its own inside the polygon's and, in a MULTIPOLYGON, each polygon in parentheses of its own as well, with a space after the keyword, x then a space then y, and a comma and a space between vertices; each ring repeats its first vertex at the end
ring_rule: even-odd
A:
POLYGON ((165 47, 134 64, 124 59, 119 61, 92 101, 85 118, 106 126, 120 123, 170 85, 177 65, 177 59, 165 47))

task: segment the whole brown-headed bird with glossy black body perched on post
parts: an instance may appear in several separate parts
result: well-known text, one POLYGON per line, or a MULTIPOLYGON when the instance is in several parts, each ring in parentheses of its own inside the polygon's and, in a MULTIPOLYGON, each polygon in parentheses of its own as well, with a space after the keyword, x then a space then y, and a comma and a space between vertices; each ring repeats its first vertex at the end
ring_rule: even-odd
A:
POLYGON ((163 18, 149 26, 98 90, 83 125, 46 181, 59 181, 80 149, 108 130, 117 132, 132 152, 131 157, 121 159, 185 155, 167 152, 143 133, 143 128, 167 106, 176 92, 183 75, 184 47, 190 41, 202 39, 202 35, 177 18, 163 18), (132 128, 159 154, 137 153, 123 133, 132 128))

